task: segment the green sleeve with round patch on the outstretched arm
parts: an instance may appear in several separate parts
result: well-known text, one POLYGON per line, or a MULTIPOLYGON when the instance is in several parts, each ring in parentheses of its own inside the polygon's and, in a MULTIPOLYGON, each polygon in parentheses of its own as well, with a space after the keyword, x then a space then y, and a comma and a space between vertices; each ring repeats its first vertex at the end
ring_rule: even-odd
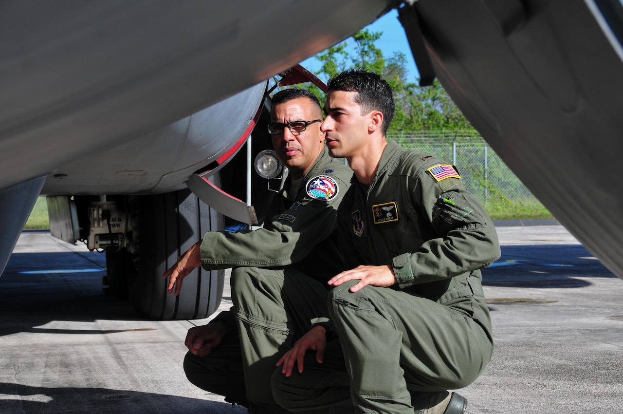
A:
POLYGON ((273 216, 265 228, 206 233, 201 243, 202 267, 206 270, 281 267, 305 258, 335 229, 337 208, 348 187, 336 176, 322 177, 325 184, 335 185, 331 194, 314 191, 318 188, 313 186, 313 180, 318 177, 308 180, 305 188, 298 191, 293 205, 273 216))

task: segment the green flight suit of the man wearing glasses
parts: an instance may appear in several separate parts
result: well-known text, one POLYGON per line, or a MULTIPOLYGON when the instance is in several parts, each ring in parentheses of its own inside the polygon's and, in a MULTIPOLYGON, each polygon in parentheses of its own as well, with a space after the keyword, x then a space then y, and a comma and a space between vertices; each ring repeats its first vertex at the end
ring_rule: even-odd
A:
POLYGON ((270 389, 275 363, 312 319, 328 316, 326 281, 344 269, 336 239, 329 236, 352 175, 324 148, 295 194, 288 194, 288 177, 264 228, 206 233, 202 267, 234 268, 233 306, 214 319, 228 327, 223 346, 206 357, 186 355, 184 370, 197 387, 242 405, 276 405, 270 389))

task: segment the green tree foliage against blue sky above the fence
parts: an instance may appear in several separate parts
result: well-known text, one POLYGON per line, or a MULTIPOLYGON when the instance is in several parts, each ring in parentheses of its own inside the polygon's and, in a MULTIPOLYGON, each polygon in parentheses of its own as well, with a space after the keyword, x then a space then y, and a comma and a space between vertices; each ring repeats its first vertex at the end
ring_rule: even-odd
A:
MULTIPOLYGON (((394 91, 396 115, 389 132, 419 130, 473 130, 468 120, 452 102, 444 88, 435 80, 429 87, 419 86, 419 79, 409 82, 406 55, 396 52, 390 57, 376 46, 382 32, 363 29, 349 40, 331 46, 316 55, 321 67, 315 72, 322 80, 328 80, 343 70, 359 67, 382 74, 394 91)), ((305 89, 315 93, 324 104, 324 94, 314 85, 305 89)))

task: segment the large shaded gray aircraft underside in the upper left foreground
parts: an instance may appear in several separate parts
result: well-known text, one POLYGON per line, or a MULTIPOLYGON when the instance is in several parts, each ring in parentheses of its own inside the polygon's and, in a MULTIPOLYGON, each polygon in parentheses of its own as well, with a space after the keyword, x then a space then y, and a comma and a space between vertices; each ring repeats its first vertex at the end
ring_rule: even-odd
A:
POLYGON ((392 3, 2 2, 0 188, 269 79, 392 3))

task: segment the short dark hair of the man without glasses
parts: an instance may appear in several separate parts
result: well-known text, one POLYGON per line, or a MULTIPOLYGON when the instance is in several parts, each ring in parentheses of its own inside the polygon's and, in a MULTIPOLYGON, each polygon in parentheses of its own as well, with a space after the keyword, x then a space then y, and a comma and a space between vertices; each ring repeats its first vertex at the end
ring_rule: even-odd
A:
POLYGON ((361 115, 378 110, 383 113, 383 134, 388 132, 394 118, 394 94, 381 75, 363 69, 349 69, 335 75, 326 83, 329 90, 357 92, 355 103, 361 107, 361 115))

